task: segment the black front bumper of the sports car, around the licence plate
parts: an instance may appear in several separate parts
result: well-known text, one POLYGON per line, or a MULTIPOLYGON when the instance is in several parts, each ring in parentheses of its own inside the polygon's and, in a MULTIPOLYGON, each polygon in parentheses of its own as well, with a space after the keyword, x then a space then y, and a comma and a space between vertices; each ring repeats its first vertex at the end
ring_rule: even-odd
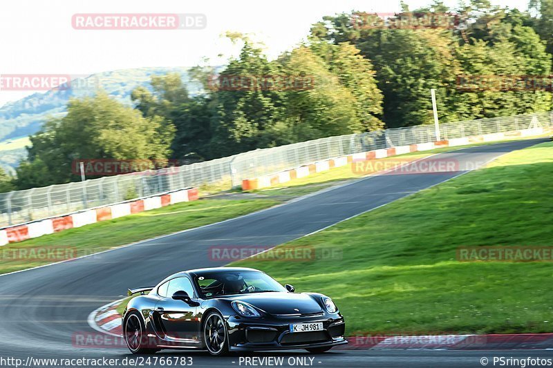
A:
POLYGON ((339 313, 321 316, 227 318, 229 349, 232 351, 311 349, 347 344, 346 324, 339 313), (323 330, 290 333, 290 324, 322 322, 323 330))

